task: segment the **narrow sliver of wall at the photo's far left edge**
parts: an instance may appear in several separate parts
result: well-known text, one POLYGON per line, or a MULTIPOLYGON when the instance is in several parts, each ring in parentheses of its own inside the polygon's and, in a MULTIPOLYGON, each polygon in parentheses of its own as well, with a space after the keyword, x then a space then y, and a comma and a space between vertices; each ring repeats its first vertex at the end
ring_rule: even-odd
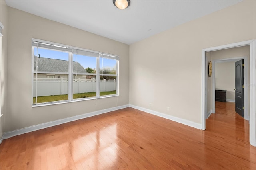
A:
POLYGON ((2 37, 2 51, 1 51, 1 65, 0 65, 0 89, 1 89, 1 99, 0 99, 0 104, 1 104, 1 114, 3 116, 0 118, 0 139, 2 139, 3 133, 4 133, 4 126, 6 125, 5 120, 6 120, 6 99, 7 99, 7 38, 8 38, 8 7, 6 5, 6 2, 4 0, 0 0, 0 20, 1 23, 4 25, 4 29, 2 30, 2 34, 4 35, 2 37))

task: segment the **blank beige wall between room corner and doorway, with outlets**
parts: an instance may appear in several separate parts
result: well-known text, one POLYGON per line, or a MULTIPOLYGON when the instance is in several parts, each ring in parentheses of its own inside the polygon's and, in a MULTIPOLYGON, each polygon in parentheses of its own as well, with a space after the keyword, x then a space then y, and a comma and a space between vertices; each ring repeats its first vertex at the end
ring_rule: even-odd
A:
POLYGON ((130 104, 201 123, 202 49, 255 39, 255 3, 242 1, 130 45, 130 104))

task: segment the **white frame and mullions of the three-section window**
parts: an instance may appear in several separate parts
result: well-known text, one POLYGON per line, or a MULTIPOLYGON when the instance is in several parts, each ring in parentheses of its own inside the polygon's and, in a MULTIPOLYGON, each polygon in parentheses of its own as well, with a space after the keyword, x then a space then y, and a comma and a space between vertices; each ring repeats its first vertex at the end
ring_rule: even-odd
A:
MULTIPOLYGON (((68 55, 68 60, 69 60, 69 67, 68 67, 68 100, 60 100, 60 101, 54 101, 54 102, 44 102, 44 103, 36 103, 33 104, 33 91, 34 91, 34 47, 32 45, 32 107, 38 107, 38 106, 48 106, 48 105, 53 105, 53 104, 63 104, 63 103, 68 103, 68 102, 78 102, 78 101, 84 101, 84 100, 92 100, 95 98, 108 98, 108 97, 113 97, 113 96, 119 96, 119 56, 118 55, 112 55, 108 53, 102 53, 99 51, 93 51, 93 50, 88 50, 88 49, 83 49, 83 48, 78 48, 78 47, 73 47, 70 45, 64 45, 60 43, 54 43, 50 41, 45 41, 41 39, 34 39, 32 38, 32 41, 40 42, 40 43, 46 43, 46 44, 52 44, 58 48, 58 46, 62 47, 67 47, 67 49, 71 48, 71 52, 67 52, 68 55), (79 99, 73 99, 73 49, 79 49, 87 52, 92 52, 92 53, 98 53, 98 57, 96 57, 96 96, 95 97, 89 97, 89 98, 79 98, 79 99), (110 56, 112 59, 116 59, 116 74, 100 74, 100 55, 105 55, 105 56, 110 56), (106 75, 106 76, 116 76, 116 94, 110 94, 110 95, 105 95, 105 96, 100 96, 100 75, 106 75)), ((41 47, 42 48, 42 47, 41 47)), ((45 49, 50 49, 50 48, 45 48, 45 49)), ((61 51, 59 49, 55 49, 58 51, 61 51)), ((70 50, 70 49, 69 49, 70 50)), ((108 58, 108 57, 103 57, 103 58, 108 58)), ((40 72, 38 72, 40 73, 40 72)), ((54 72, 55 73, 55 72, 54 72)), ((58 74, 58 73, 55 73, 58 74)), ((64 73, 62 73, 64 74, 64 73)), ((65 73, 66 74, 66 73, 65 73)), ((86 74, 90 75, 90 74, 86 74)), ((93 74, 95 75, 95 74, 93 74)))

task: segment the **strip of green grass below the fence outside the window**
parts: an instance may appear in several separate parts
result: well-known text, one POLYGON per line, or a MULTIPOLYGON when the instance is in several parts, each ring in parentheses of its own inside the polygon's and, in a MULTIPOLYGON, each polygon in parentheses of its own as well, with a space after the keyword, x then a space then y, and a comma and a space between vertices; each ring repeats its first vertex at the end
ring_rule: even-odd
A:
MULTIPOLYGON (((109 92, 100 92, 100 96, 116 94, 116 90, 109 91, 109 92)), ((73 94, 73 99, 78 98, 88 98, 96 96, 96 92, 89 92, 89 93, 77 93, 73 94)), ((44 102, 54 102, 60 100, 68 100, 68 95, 54 95, 54 96, 39 96, 37 97, 37 103, 44 103, 44 102)), ((33 98, 33 103, 36 103, 36 97, 33 98)))

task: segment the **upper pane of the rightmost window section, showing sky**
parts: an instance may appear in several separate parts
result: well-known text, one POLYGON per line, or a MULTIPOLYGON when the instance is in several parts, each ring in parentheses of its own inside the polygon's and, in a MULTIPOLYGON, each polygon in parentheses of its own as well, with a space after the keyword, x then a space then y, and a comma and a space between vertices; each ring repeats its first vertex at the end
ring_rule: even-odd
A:
POLYGON ((116 74, 116 60, 100 57, 100 74, 116 74))

